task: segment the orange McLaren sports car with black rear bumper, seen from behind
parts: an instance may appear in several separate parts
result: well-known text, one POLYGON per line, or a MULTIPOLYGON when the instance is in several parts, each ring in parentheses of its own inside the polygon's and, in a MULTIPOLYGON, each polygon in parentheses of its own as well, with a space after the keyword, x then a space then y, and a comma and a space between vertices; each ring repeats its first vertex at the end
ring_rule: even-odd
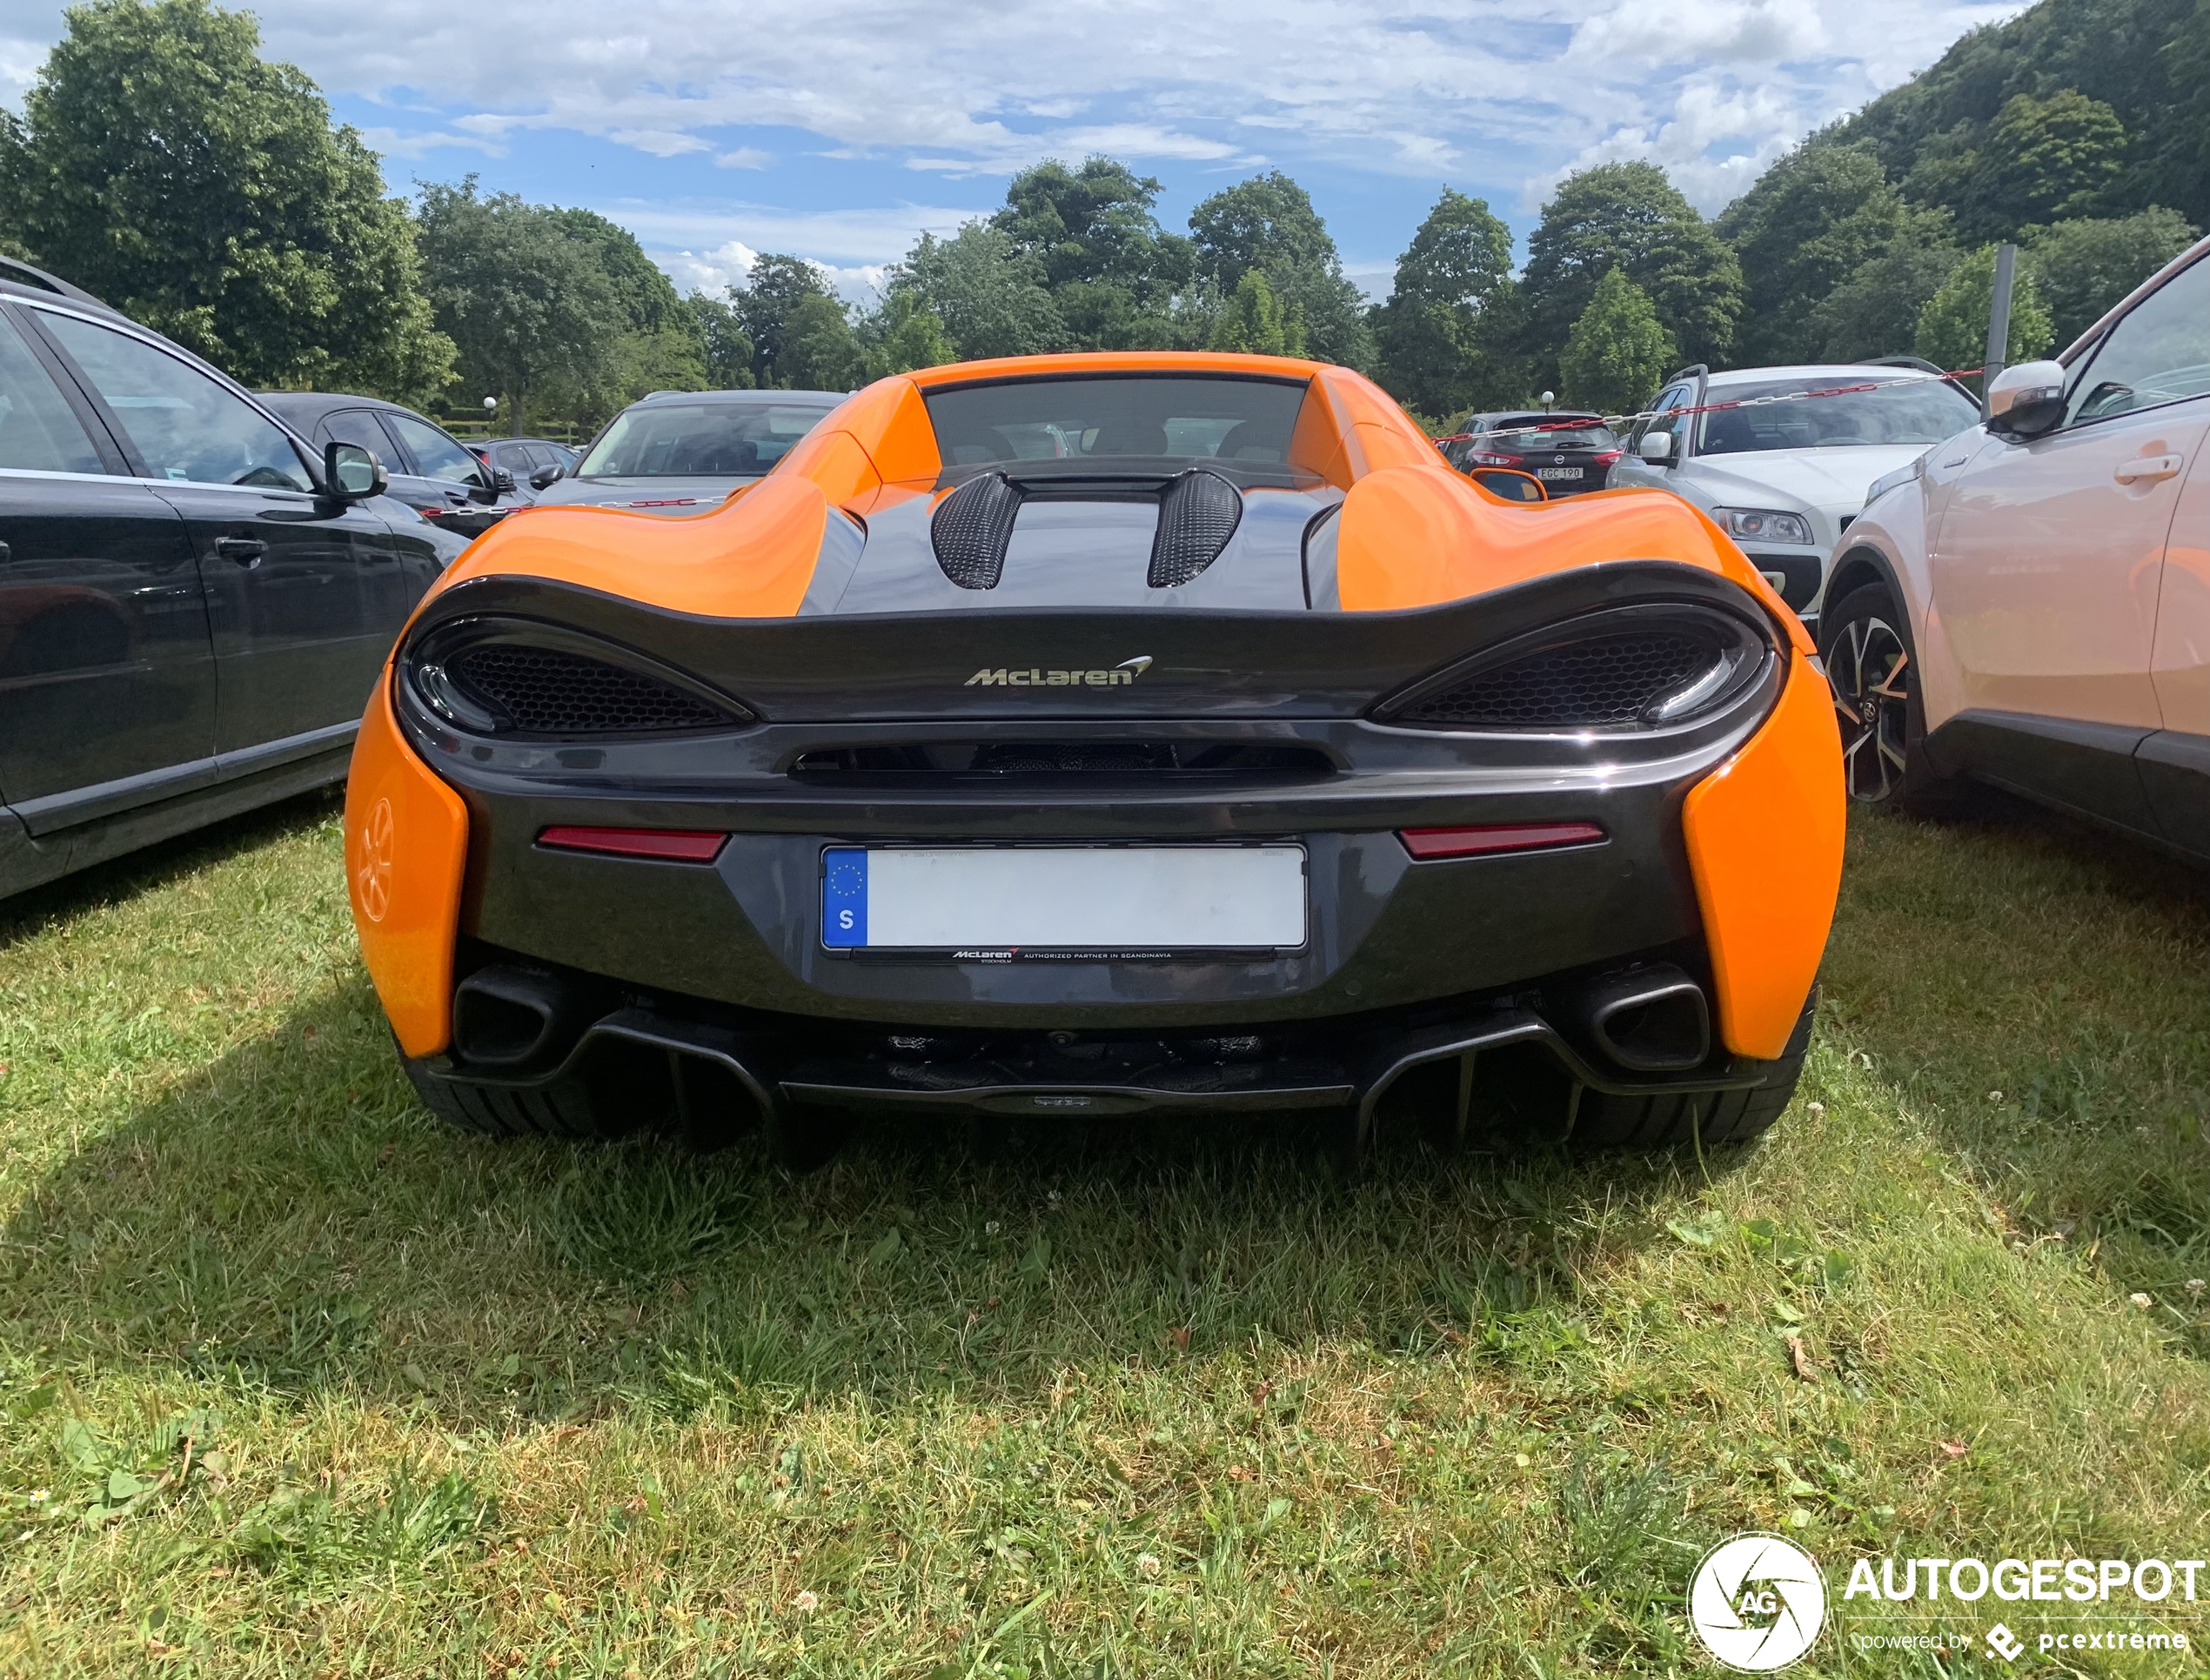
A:
POLYGON ((369 705, 347 867, 482 1132, 1669 1145, 1786 1107, 1841 829, 1812 645, 1686 502, 1507 500, 1341 367, 1101 354, 880 380, 696 517, 502 522, 369 705))

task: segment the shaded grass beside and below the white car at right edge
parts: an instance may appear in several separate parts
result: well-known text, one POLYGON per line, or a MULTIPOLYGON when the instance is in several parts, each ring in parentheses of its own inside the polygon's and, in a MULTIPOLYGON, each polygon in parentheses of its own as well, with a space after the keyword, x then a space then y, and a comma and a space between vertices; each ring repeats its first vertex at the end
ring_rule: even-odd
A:
POLYGON ((2199 1355, 2210 1275, 2210 873, 2002 794, 1859 816, 1825 997, 1989 1183, 2199 1355), (2195 1289, 2188 1289, 2197 1280, 2195 1289))

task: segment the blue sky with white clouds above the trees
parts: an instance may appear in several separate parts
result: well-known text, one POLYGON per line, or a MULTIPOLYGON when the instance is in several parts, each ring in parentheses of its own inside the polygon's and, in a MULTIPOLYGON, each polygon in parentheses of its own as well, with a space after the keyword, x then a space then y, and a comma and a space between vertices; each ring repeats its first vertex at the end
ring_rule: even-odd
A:
MULTIPOLYGON (((396 192, 477 175, 630 228, 685 290, 796 252, 869 294, 1043 157, 1107 153, 1182 228, 1280 168, 1388 290, 1443 186, 1520 239, 1574 168, 1662 164, 1706 214, 2016 0, 267 0, 396 192)), ((0 0, 20 106, 62 7, 0 0)))

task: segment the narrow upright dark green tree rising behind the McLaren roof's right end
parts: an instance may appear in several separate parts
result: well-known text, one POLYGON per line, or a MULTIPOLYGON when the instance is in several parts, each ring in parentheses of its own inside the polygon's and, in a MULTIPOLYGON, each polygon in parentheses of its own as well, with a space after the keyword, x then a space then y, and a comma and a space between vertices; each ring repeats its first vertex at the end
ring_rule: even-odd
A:
POLYGON ((1381 382, 1410 409, 1445 416, 1496 385, 1487 332, 1512 290, 1512 230, 1490 206, 1443 188, 1397 259, 1397 283, 1375 312, 1381 382))

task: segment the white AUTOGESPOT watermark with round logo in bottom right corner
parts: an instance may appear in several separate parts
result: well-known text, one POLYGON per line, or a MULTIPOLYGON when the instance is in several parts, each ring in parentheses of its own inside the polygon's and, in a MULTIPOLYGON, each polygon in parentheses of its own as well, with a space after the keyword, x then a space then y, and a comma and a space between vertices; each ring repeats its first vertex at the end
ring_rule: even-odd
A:
MULTIPOLYGON (((1850 1609, 1923 1620, 1976 1616, 1985 1600, 2018 1603, 2013 1620, 2044 1623, 2013 1631, 2007 1623, 1927 1627, 1918 1631, 1845 1631, 1861 1653, 1978 1656, 2016 1662, 2031 1651, 2192 1651, 2175 1627, 2172 1607, 2210 1592, 2203 1558, 1856 1558, 1841 1592, 1850 1609), (2077 1605, 2040 1611, 2027 1605, 2077 1605), (1909 1605, 1909 1609, 1903 1609, 1909 1605), (2095 1605, 2095 1609, 2084 1609, 2095 1605)), ((1704 1649, 1744 1673, 1772 1673, 1801 1662, 1828 1623, 1825 1574, 1819 1561, 1779 1534, 1737 1534, 1697 1565, 1688 1585, 1688 1623, 1704 1649)))

